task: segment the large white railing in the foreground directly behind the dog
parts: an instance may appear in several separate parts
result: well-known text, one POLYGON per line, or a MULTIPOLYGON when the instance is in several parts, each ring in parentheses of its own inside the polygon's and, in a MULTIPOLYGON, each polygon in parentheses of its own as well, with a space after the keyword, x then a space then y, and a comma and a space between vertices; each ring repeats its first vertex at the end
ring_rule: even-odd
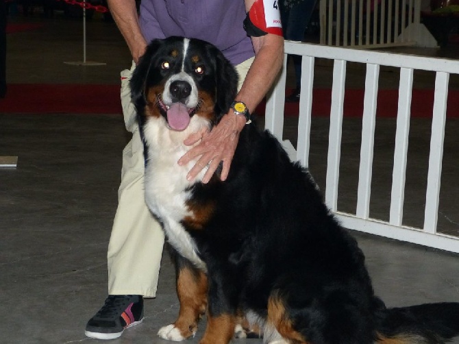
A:
MULTIPOLYGON (((459 61, 341 47, 327 47, 290 41, 286 41, 285 43, 285 53, 303 56, 297 147, 295 149, 287 141, 284 142, 284 147, 289 151, 290 157, 294 160, 299 160, 304 166, 308 166, 310 151, 314 61, 316 58, 325 58, 334 61, 325 202, 332 212, 336 214, 336 217, 338 217, 341 223, 343 223, 345 228, 459 253, 459 238, 436 232, 448 81, 451 73, 459 74, 459 61), (360 62, 367 66, 356 214, 339 212, 337 209, 347 62, 360 62), (373 142, 380 66, 393 66, 400 69, 389 221, 371 219, 369 217, 373 142), (402 225, 414 70, 434 71, 436 74, 423 228, 402 225)), ((266 101, 265 115, 266 129, 273 132, 281 141, 284 127, 286 60, 284 59, 284 69, 280 73, 279 81, 266 101)))

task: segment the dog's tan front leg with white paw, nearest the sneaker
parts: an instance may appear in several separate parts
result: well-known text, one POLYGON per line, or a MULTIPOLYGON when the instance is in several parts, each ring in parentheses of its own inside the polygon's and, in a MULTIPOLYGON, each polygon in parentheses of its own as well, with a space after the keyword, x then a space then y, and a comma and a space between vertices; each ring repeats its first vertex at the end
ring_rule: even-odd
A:
POLYGON ((158 332, 162 339, 183 341, 194 336, 197 323, 206 313, 207 306, 207 276, 203 272, 196 275, 190 269, 179 271, 177 278, 177 295, 180 302, 179 316, 175 323, 164 326, 158 332))

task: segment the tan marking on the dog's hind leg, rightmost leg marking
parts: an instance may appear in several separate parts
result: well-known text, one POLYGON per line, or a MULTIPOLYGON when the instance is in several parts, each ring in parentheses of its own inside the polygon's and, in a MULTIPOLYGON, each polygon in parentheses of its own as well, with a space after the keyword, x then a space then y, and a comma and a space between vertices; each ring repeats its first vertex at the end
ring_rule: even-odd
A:
POLYGON ((282 300, 282 297, 277 295, 277 293, 273 293, 268 300, 268 322, 276 328, 277 332, 279 332, 284 339, 287 339, 287 342, 295 344, 309 344, 309 342, 303 338, 301 333, 297 332, 293 328, 293 323, 288 317, 284 301, 282 300))

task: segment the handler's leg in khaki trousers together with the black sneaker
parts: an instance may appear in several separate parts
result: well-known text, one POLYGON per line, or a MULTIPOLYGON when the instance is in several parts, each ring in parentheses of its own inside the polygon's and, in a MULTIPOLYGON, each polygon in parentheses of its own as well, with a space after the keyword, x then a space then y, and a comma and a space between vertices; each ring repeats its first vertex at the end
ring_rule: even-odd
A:
MULTIPOLYGON (((238 64, 238 89, 253 58, 238 64)), ((86 325, 86 336, 115 339, 143 318, 143 297, 156 297, 164 232, 149 212, 144 195, 143 143, 131 102, 130 70, 121 72, 121 104, 132 140, 123 150, 119 204, 108 245, 108 298, 86 325)))

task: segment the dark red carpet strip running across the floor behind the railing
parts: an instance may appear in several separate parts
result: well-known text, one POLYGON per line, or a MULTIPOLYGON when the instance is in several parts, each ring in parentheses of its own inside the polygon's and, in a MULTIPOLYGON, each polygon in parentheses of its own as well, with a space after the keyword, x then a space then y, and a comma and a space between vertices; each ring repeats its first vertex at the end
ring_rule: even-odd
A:
MULTIPOLYGON (((119 85, 73 84, 9 84, 5 99, 0 99, 0 113, 71 113, 121 114, 119 85)), ((288 91, 290 92, 290 91, 288 91)), ((312 114, 329 116, 332 93, 330 89, 315 89, 312 114)), ((344 115, 362 116, 364 90, 349 89, 345 93, 344 115)), ((398 90, 380 90, 377 116, 394 117, 397 114, 398 90)), ((433 90, 413 90, 411 114, 413 117, 431 117, 433 90)), ((298 116, 298 103, 286 103, 286 116, 298 116)), ((264 114, 264 103, 256 110, 264 114)), ((450 90, 447 115, 459 117, 459 91, 450 90)))

